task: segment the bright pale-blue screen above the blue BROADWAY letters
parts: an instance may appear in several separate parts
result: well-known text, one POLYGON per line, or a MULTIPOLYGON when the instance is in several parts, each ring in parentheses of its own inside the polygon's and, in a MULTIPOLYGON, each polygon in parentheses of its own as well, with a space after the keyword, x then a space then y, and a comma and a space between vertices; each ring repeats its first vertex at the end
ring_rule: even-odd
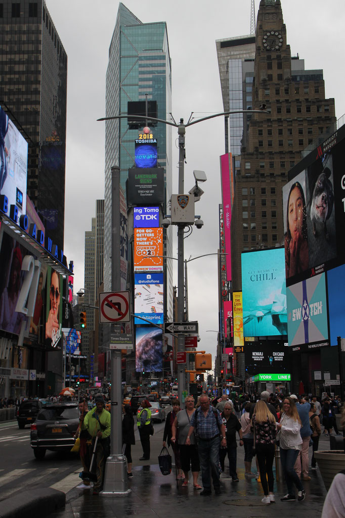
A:
POLYGON ((27 142, 0 107, 0 194, 26 212, 27 142))

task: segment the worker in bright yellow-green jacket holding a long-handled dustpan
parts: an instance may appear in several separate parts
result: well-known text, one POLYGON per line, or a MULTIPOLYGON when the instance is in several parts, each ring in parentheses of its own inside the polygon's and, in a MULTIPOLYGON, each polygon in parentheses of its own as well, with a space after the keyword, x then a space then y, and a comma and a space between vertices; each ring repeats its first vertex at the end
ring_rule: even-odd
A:
POLYGON ((94 483, 94 495, 98 495, 103 488, 106 460, 110 455, 110 413, 104 408, 106 404, 101 394, 95 396, 95 403, 96 407, 85 415, 84 428, 92 437, 93 447, 98 437, 95 452, 97 482, 94 483))

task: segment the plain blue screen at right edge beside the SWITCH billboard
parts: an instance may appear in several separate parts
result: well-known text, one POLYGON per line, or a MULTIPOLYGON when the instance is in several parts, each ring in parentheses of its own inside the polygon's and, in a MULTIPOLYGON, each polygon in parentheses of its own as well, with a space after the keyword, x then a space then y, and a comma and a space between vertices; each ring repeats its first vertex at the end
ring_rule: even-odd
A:
POLYGON ((337 337, 345 338, 344 329, 344 293, 345 265, 327 272, 329 342, 331 346, 338 344, 337 337))

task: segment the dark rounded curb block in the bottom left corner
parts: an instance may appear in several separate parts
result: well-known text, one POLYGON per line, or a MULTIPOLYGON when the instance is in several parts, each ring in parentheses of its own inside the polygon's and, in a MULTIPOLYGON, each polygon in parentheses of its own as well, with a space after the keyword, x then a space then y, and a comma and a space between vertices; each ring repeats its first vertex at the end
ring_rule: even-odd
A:
POLYGON ((66 495, 50 487, 23 491, 20 498, 5 498, 1 501, 0 518, 43 518, 65 507, 66 495))

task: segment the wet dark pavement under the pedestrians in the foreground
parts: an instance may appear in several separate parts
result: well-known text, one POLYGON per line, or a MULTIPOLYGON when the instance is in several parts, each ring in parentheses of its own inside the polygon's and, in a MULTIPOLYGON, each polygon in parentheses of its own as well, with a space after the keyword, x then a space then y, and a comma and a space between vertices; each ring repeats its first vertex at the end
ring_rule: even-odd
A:
MULTIPOLYGON (((309 471, 311 480, 304 482, 306 498, 303 502, 281 502, 280 498, 287 493, 283 482, 275 481, 274 493, 276 503, 265 505, 261 484, 255 479, 244 477, 244 452, 237 448, 238 483, 232 482, 226 474, 221 474, 221 495, 203 497, 200 491, 176 484, 175 473, 163 476, 159 470, 157 456, 161 450, 163 426, 155 425, 155 435, 151 438, 150 461, 139 461, 142 454, 141 444, 136 434, 137 444, 133 447, 133 478, 128 480, 131 493, 124 497, 106 497, 93 495, 89 490, 74 488, 66 495, 64 510, 52 513, 49 518, 110 518, 134 515, 136 518, 157 516, 159 518, 201 518, 214 516, 236 516, 236 518, 312 516, 318 518, 322 513, 326 496, 324 484, 319 470, 309 471)), ((320 450, 329 449, 329 441, 321 437, 320 450)), ((311 449, 310 449, 311 450, 311 449)), ((256 471, 255 461, 252 463, 256 471)), ((274 466, 275 468, 275 466, 274 466)), ((228 462, 226 460, 226 472, 228 462)), ((199 478, 201 483, 201 477, 199 478)))

